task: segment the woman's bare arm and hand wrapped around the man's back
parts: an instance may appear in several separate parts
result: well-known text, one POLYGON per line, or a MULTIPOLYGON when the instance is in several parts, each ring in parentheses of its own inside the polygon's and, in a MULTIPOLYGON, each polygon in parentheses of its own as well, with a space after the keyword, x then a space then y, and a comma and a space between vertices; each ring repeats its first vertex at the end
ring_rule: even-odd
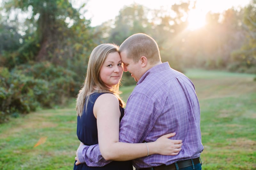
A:
POLYGON ((93 108, 97 118, 100 152, 106 160, 131 160, 151 154, 177 155, 181 150, 181 140, 170 140, 175 134, 167 134, 155 142, 130 144, 119 142, 119 102, 110 93, 102 94, 93 108))

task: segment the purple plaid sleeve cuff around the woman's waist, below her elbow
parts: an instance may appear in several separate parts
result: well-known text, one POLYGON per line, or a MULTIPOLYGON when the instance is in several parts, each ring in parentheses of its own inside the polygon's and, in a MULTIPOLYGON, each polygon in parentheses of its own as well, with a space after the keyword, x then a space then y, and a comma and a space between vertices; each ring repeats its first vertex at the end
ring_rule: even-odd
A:
POLYGON ((87 166, 104 166, 111 162, 102 157, 99 144, 81 146, 78 150, 78 159, 81 163, 86 163, 87 166))

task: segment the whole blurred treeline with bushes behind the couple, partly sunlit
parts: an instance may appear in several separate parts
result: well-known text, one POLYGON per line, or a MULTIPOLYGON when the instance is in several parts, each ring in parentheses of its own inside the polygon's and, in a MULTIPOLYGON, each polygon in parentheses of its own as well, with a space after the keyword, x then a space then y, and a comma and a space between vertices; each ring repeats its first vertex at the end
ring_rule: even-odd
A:
MULTIPOLYGON (((191 5, 174 4, 171 16, 132 4, 114 20, 92 27, 84 17, 86 4, 76 9, 68 0, 4 0, 0 122, 75 97, 92 49, 100 43, 120 45, 133 33, 152 36, 162 61, 181 72, 201 67, 256 73, 256 0, 241 9, 208 13, 206 25, 194 31, 186 29, 191 5)), ((123 85, 134 84, 129 73, 123 79, 123 85)))

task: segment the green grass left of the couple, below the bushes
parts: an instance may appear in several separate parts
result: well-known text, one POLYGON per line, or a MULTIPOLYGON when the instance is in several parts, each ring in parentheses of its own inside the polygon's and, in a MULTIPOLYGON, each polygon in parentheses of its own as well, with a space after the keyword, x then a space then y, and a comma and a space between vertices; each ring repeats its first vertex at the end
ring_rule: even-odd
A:
POLYGON ((0 127, 0 169, 71 169, 79 142, 72 108, 41 110, 0 127), (36 147, 41 137, 45 143, 36 147))

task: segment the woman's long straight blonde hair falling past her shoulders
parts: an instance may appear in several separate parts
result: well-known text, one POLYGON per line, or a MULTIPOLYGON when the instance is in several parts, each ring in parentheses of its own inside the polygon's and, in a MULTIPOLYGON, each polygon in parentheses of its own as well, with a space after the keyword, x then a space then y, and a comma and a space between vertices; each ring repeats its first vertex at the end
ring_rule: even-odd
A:
POLYGON ((85 97, 88 97, 93 92, 111 92, 119 100, 119 105, 124 107, 123 100, 119 97, 119 85, 114 85, 112 89, 109 89, 100 78, 100 68, 106 60, 109 53, 119 52, 119 48, 116 44, 100 44, 92 50, 89 58, 86 78, 84 80, 83 87, 79 91, 76 99, 76 113, 78 116, 83 114, 83 109, 87 110, 88 100, 85 103, 85 97))

